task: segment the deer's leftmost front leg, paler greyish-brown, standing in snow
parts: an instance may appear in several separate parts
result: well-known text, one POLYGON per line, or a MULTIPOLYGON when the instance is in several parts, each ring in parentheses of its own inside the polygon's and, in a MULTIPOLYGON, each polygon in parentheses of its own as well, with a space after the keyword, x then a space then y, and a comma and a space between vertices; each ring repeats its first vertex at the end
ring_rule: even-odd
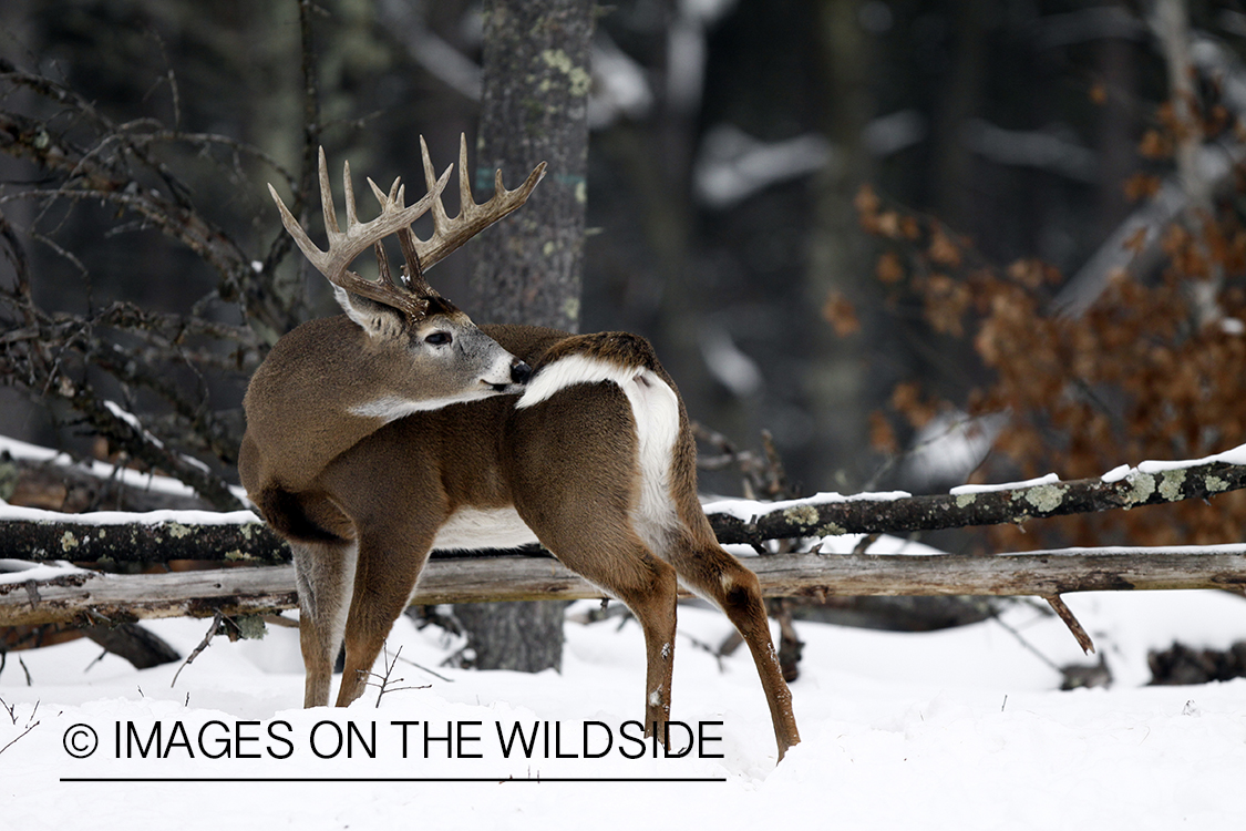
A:
POLYGON ((333 662, 346 628, 358 547, 354 541, 290 541, 290 548, 299 591, 299 645, 307 669, 303 706, 325 706, 333 662))

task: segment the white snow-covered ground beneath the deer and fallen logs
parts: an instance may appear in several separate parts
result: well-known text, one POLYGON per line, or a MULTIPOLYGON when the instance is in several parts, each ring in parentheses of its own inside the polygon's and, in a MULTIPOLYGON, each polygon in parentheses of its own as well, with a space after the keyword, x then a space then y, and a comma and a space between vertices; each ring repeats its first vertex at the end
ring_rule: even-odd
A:
MULTIPOLYGON (((1226 648, 1246 637, 1246 599, 1156 592, 1067 601, 1106 654, 1111 689, 1055 690, 1058 673, 994 620, 930 634, 800 624, 806 647, 792 693, 804 741, 779 766, 746 653, 719 668, 688 637, 675 650, 673 718, 704 741, 684 757, 653 759, 625 738, 634 729, 624 723, 642 714, 634 624, 568 623, 562 674, 522 675, 441 669, 457 644, 404 618, 390 650, 401 647, 392 678, 405 680, 391 686, 427 686, 392 689, 379 706, 371 690, 345 711, 298 709, 292 629, 270 628, 259 642, 217 639, 173 688, 176 665, 136 672, 111 655, 95 663, 98 648, 86 640, 21 653, 25 670, 14 653, 0 674, 11 709, 0 713, 0 824, 1244 827, 1246 680, 1141 685, 1149 648, 1172 639, 1226 648), (520 740, 507 759, 500 734, 511 740, 516 725, 541 731, 530 754, 520 740), (75 757, 92 746, 91 733, 95 753, 75 757), (439 740, 447 735, 455 741, 439 740), (131 781, 82 781, 101 777, 131 781), (169 777, 194 781, 133 781, 169 777)), ((1090 663, 1037 605, 1004 620, 1055 663, 1090 663)), ((150 625, 186 654, 207 622, 150 625)), ((728 625, 716 612, 680 608, 682 633, 701 642, 718 643, 728 625)))

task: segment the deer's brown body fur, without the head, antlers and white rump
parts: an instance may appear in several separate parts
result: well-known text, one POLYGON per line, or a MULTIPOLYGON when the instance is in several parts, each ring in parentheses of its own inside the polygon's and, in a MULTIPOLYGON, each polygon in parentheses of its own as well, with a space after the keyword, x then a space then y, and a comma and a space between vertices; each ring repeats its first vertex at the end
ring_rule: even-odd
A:
MULTIPOLYGON (((334 320, 295 330, 287 336, 292 343, 283 340, 274 349, 277 365, 257 371, 247 395, 248 434, 239 462, 252 500, 295 552, 307 706, 328 703, 339 637, 345 639, 346 668, 338 704, 363 693, 439 528, 455 511, 513 506, 563 564, 637 615, 645 635, 650 731, 670 718, 675 592, 682 579, 715 602, 749 644, 780 757, 800 741, 756 577, 718 544, 697 500, 697 451, 682 401, 669 493, 677 521, 660 534, 662 551, 655 551, 633 527, 638 440, 618 386, 579 384, 526 409, 516 409, 516 399, 506 396, 369 424, 343 412, 341 399, 334 396, 349 392, 339 389, 331 371, 324 381, 318 369, 331 364, 329 356, 339 350, 351 351, 340 339, 358 343, 348 329, 353 324, 334 320), (318 400, 307 404, 307 394, 321 384, 318 400), (292 395, 292 389, 299 392, 292 395), (274 439, 278 432, 283 437, 274 439), (334 623, 343 612, 344 630, 334 623)), ((481 330, 537 371, 559 358, 588 354, 619 366, 644 366, 675 390, 649 344, 634 335, 568 335, 533 326, 481 330)))

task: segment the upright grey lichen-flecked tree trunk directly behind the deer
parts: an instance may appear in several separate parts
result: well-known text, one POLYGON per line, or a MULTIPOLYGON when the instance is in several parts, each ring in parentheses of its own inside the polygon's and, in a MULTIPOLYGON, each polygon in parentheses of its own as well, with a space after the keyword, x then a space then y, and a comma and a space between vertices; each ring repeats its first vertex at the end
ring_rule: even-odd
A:
MULTIPOLYGON (((587 0, 485 5, 476 188, 492 188, 493 169, 508 184, 542 161, 548 172, 523 211, 473 247, 477 320, 579 328, 593 7, 587 0)), ((561 668, 562 612, 559 602, 455 609, 476 667, 522 672, 561 668)))

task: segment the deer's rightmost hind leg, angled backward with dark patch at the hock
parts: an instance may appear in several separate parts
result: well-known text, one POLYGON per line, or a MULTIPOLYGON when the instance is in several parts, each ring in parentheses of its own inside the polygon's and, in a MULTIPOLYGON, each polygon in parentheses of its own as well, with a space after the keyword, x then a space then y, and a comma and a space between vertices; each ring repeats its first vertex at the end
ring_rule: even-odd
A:
POLYGON ((749 644, 782 760, 787 749, 800 743, 800 733, 791 709, 791 691, 782 679, 779 654, 770 639, 770 622, 756 574, 718 543, 699 542, 692 534, 678 534, 667 553, 688 588, 718 604, 749 644))

